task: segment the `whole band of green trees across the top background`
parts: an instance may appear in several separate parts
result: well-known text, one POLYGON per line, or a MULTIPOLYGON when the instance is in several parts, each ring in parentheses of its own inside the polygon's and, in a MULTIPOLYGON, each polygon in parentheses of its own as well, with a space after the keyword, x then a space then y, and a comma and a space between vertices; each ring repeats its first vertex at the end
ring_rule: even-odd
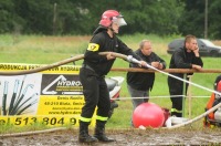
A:
MULTIPOLYGON (((1 0, 0 33, 92 34, 102 13, 125 17, 123 34, 204 36, 207 0, 1 0)), ((221 38, 221 1, 208 0, 208 38, 221 38)))

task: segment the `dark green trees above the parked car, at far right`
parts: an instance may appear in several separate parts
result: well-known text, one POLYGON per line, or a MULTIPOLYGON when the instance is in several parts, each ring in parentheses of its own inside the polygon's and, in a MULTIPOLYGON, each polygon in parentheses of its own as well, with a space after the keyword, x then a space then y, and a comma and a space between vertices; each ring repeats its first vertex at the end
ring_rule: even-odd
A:
MULTIPOLYGON (((183 35, 194 34, 204 36, 204 0, 185 0, 185 11, 179 20, 179 32, 183 35)), ((220 0, 208 0, 208 36, 210 39, 221 38, 220 25, 220 0)))

